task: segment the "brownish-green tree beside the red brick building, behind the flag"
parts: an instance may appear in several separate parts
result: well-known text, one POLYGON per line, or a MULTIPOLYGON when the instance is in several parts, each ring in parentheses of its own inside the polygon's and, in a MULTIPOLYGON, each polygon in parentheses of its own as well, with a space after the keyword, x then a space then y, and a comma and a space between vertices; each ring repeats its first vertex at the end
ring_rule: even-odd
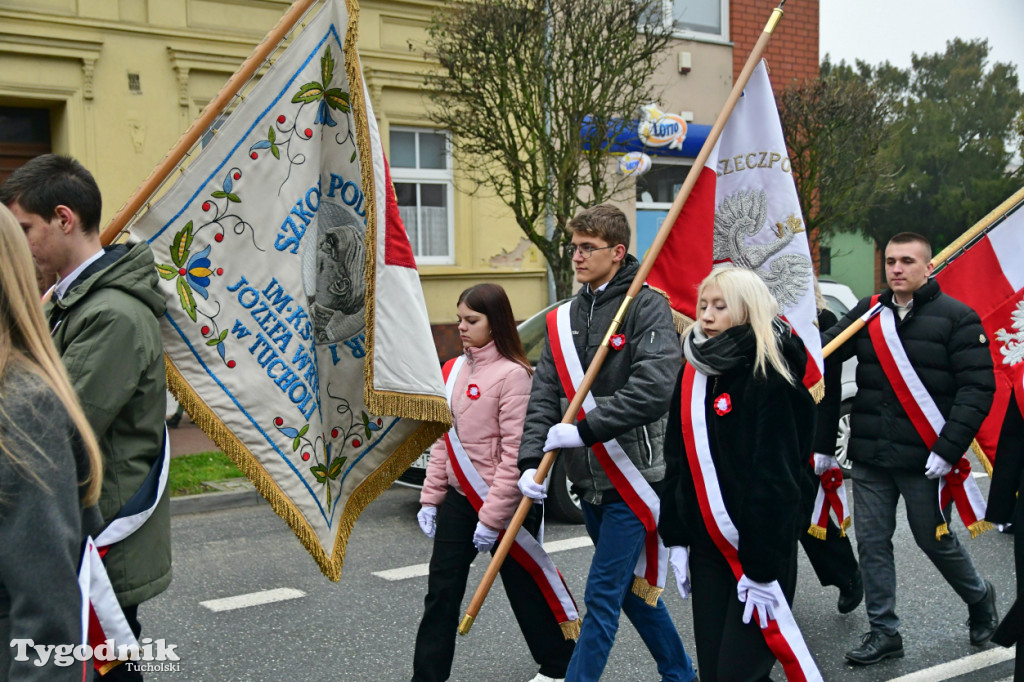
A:
POLYGON ((880 154, 892 132, 887 93, 826 55, 818 77, 787 87, 778 104, 808 235, 864 229, 893 190, 880 154))

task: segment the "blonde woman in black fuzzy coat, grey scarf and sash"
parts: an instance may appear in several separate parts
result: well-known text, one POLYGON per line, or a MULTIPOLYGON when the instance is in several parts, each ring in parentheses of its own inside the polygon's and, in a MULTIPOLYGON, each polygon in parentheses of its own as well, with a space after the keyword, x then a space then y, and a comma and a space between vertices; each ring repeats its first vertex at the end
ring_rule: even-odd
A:
POLYGON ((714 270, 683 335, 670 403, 658 530, 666 546, 689 551, 689 585, 684 562, 674 565, 681 591, 692 590, 706 680, 767 679, 776 657, 787 676, 803 664, 814 679, 809 653, 786 658, 806 651, 787 602, 806 527, 798 481, 811 457, 814 401, 801 381, 804 344, 776 310, 753 271, 714 270), (799 641, 780 649, 778 633, 799 641))

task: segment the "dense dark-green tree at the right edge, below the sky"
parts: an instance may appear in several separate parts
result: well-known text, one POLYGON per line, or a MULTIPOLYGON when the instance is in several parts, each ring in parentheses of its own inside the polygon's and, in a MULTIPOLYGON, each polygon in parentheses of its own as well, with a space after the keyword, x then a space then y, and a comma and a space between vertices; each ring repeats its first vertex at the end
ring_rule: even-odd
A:
POLYGON ((909 70, 858 63, 892 108, 882 154, 898 169, 894 190, 860 230, 878 246, 910 230, 942 249, 1020 186, 1011 164, 1024 93, 1016 68, 989 67, 988 52, 985 40, 957 38, 945 52, 914 54, 909 70))

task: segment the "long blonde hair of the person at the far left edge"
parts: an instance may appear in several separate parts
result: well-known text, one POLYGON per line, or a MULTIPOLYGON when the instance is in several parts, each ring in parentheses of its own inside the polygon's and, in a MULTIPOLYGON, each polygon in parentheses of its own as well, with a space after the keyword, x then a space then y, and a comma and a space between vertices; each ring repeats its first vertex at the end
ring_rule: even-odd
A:
MULTIPOLYGON (((0 377, 11 367, 23 367, 42 378, 63 403, 89 458, 90 475, 82 496, 82 505, 90 507, 99 499, 99 486, 102 482, 99 444, 47 332, 39 301, 36 268, 25 233, 11 212, 2 204, 0 254, 3 254, 3 267, 0 267, 0 377)), ((22 464, 17 454, 2 441, 0 457, 8 457, 15 464, 22 464)), ((29 473, 34 475, 34 472, 29 473)), ((39 482, 45 485, 45 481, 39 482)))

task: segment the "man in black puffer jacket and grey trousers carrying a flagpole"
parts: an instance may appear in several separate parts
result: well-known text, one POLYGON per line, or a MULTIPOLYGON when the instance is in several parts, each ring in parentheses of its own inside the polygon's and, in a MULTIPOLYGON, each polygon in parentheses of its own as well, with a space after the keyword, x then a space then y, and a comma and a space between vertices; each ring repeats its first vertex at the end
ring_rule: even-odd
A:
MULTIPOLYGON (((846 654, 847 660, 858 665, 903 655, 892 547, 900 496, 918 546, 969 605, 971 643, 987 642, 998 623, 995 591, 982 580, 967 550, 951 531, 936 539, 936 528, 944 522, 938 506, 939 479, 970 447, 991 406, 995 380, 978 314, 943 294, 929 278, 931 257, 931 245, 921 235, 902 232, 892 238, 886 247, 890 289, 878 297, 883 311, 827 360, 839 364, 854 354, 858 360, 848 453, 854 462, 854 527, 871 628, 861 646, 846 654), (919 433, 921 423, 915 426, 897 397, 868 331, 876 326, 879 342, 885 344, 881 330, 890 317, 898 343, 927 392, 913 393, 912 399, 924 408, 930 396, 944 421, 930 443, 919 433)), ((823 340, 836 338, 872 303, 871 297, 861 300, 823 340)))

